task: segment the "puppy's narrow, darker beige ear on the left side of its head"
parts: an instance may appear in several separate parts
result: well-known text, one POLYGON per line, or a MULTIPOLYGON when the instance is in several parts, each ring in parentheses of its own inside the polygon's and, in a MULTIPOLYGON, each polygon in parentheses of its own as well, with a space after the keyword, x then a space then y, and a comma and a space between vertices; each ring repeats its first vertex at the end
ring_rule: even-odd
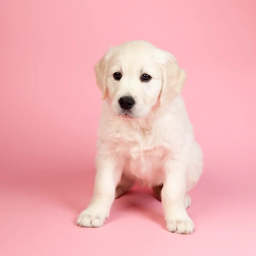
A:
POLYGON ((102 92, 102 100, 107 98, 108 88, 107 88, 107 77, 108 77, 108 67, 111 58, 111 49, 106 52, 103 57, 94 66, 94 71, 96 74, 96 84, 99 90, 102 92))

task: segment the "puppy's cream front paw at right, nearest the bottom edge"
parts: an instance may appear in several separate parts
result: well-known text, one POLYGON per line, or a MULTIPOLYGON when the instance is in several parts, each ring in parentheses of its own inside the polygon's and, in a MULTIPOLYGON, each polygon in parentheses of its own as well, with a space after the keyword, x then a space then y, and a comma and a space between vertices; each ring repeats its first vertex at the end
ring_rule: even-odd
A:
POLYGON ((191 234, 194 231, 195 226, 190 218, 186 218, 166 221, 166 228, 172 233, 191 234))

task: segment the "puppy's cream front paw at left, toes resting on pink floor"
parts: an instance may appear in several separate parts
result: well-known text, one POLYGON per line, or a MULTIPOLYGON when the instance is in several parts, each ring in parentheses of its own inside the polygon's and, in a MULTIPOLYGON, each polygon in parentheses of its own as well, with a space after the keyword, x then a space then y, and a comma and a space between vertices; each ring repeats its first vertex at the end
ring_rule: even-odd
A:
POLYGON ((108 215, 99 209, 85 209, 79 214, 76 223, 80 227, 101 227, 107 218, 108 215))

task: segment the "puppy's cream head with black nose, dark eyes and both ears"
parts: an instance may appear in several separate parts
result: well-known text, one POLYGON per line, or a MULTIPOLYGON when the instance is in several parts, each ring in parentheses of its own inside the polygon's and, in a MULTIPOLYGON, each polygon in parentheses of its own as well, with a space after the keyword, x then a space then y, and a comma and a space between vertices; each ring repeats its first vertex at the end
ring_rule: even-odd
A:
POLYGON ((116 115, 143 118, 159 101, 165 105, 180 94, 186 73, 169 52, 145 41, 112 47, 95 65, 102 99, 116 115))

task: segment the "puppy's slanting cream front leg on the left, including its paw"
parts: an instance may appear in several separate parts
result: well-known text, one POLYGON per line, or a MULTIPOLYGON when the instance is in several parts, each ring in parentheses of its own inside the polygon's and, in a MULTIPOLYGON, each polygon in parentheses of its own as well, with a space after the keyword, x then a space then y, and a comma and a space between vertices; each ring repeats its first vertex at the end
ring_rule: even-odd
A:
POLYGON ((81 227, 101 227, 108 218, 115 199, 115 189, 122 174, 118 161, 111 156, 97 157, 93 198, 77 219, 81 227))

